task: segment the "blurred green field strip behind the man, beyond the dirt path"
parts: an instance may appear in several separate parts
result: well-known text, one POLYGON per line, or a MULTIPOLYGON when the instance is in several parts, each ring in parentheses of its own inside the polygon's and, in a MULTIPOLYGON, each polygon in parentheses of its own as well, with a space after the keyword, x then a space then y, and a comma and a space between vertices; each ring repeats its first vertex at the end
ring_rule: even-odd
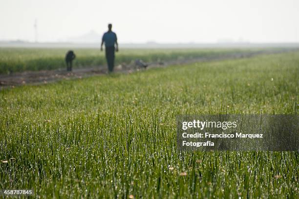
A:
MULTIPOLYGON (((296 49, 296 48, 295 48, 296 49)), ((0 74, 22 71, 65 70, 64 56, 69 48, 0 48, 0 74)), ((73 68, 106 65, 104 52, 97 48, 75 48, 73 68)), ((136 59, 145 62, 169 60, 215 60, 250 57, 260 53, 275 53, 294 48, 218 48, 218 49, 122 49, 116 54, 116 65, 136 59)))

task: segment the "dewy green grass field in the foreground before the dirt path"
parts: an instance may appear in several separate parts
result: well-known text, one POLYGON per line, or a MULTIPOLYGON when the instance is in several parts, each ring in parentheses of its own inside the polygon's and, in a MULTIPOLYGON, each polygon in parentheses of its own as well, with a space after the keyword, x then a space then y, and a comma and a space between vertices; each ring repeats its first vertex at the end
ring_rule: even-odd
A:
POLYGON ((292 52, 1 90, 0 189, 298 198, 298 152, 181 153, 175 126, 179 114, 297 113, 298 74, 292 52))

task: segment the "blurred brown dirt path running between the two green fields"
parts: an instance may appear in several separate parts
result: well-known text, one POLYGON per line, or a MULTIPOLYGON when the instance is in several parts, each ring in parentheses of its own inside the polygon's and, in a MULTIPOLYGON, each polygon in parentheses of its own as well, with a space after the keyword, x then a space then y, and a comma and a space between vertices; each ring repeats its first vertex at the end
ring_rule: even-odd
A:
MULTIPOLYGON (((148 68, 166 67, 169 65, 178 65, 178 64, 213 61, 213 60, 249 58, 259 54, 274 54, 274 53, 287 52, 291 50, 292 49, 283 49, 283 50, 280 49, 275 51, 261 50, 255 52, 236 52, 231 55, 223 55, 214 58, 195 58, 195 59, 179 58, 177 60, 148 63, 149 64, 148 68)), ((129 64, 122 63, 120 65, 115 66, 114 70, 115 72, 131 73, 133 71, 144 70, 144 69, 136 66, 134 63, 129 63, 129 64)), ((24 84, 43 84, 43 83, 53 82, 57 80, 69 80, 69 79, 76 79, 76 78, 81 79, 85 77, 103 75, 103 74, 107 74, 106 66, 78 68, 78 69, 74 69, 72 72, 65 71, 65 69, 26 71, 21 73, 13 73, 11 75, 0 75, 0 89, 7 88, 7 87, 14 87, 18 85, 24 85, 24 84)))

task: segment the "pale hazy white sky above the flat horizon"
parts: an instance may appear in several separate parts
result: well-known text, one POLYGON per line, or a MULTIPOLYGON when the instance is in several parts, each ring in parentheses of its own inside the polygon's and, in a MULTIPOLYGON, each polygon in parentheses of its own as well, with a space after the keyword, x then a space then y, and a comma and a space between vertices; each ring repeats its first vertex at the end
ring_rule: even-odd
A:
MULTIPOLYGON (((299 42, 299 0, 0 0, 0 40, 102 34, 120 43, 299 42)), ((100 40, 100 39, 99 39, 100 40)))

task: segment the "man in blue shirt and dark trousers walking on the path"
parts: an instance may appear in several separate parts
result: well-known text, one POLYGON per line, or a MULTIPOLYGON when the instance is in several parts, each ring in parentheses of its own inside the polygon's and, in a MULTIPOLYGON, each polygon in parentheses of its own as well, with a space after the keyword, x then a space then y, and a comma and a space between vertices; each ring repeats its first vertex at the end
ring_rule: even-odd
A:
POLYGON ((114 51, 118 51, 117 37, 114 32, 112 32, 112 24, 108 24, 108 31, 104 33, 101 43, 101 51, 103 51, 103 43, 105 42, 105 52, 106 60, 108 65, 109 73, 113 71, 114 67, 114 51), (116 48, 115 48, 116 44, 116 48))

